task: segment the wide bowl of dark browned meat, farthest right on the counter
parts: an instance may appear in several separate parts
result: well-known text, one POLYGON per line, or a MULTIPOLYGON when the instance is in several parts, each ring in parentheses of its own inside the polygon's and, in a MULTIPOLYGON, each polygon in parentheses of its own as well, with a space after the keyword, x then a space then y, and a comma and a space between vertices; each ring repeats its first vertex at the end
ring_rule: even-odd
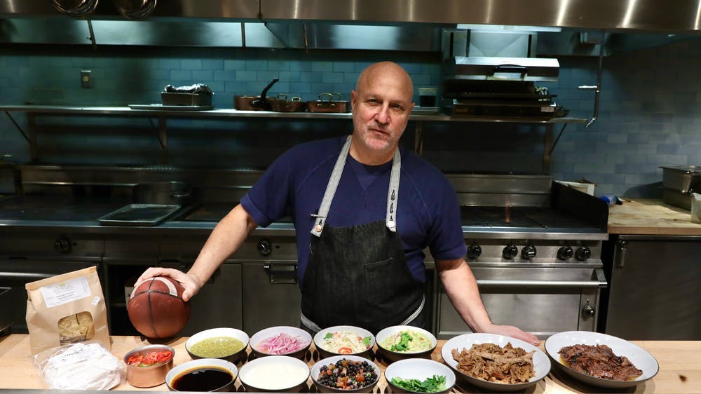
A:
POLYGON ((636 386, 660 369, 643 348, 599 332, 558 332, 545 340, 545 351, 566 374, 598 387, 636 386))

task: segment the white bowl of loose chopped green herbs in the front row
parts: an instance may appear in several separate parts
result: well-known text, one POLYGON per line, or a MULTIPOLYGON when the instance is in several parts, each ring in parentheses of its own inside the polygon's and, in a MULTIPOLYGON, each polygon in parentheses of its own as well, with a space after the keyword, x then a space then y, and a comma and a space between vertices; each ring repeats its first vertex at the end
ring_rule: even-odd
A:
POLYGON ((407 358, 388 365, 385 379, 393 393, 448 393, 455 374, 441 362, 407 358))

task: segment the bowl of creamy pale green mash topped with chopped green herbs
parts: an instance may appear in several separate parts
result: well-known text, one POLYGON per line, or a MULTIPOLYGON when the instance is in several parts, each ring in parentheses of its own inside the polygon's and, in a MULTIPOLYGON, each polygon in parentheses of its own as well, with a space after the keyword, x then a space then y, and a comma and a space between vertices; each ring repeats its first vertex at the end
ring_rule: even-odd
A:
POLYGON ((377 333, 377 348, 387 362, 406 358, 430 358, 438 341, 423 328, 393 325, 377 333))

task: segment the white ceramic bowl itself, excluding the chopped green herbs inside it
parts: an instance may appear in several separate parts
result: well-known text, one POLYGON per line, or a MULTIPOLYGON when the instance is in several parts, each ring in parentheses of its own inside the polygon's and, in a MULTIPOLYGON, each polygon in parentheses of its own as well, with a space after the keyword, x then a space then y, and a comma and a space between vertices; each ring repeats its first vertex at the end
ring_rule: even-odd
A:
POLYGON ((445 389, 434 393, 448 393, 455 386, 455 374, 452 369, 440 362, 426 358, 407 358, 388 365, 385 369, 385 380, 393 393, 417 393, 392 383, 392 379, 417 379, 425 381, 433 376, 445 376, 445 389))

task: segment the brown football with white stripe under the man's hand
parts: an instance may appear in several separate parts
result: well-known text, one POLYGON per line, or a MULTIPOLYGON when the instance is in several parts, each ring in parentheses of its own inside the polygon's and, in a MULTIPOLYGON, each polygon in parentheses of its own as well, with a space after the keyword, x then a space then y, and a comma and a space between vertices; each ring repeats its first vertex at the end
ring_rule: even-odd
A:
POLYGON ((148 338, 170 338, 185 327, 190 303, 182 300, 184 287, 167 276, 139 283, 132 291, 127 313, 134 328, 148 338))

